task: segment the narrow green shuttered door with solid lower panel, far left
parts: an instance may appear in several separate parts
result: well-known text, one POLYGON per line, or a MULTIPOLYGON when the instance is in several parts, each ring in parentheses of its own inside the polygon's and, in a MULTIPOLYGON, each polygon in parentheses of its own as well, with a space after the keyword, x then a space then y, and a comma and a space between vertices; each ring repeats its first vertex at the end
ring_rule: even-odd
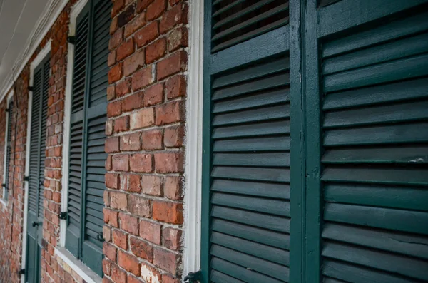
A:
POLYGON ((41 240, 44 219, 44 169, 46 151, 46 122, 49 96, 50 56, 34 69, 31 106, 29 202, 26 237, 26 282, 38 283, 41 278, 41 240), (32 223, 39 225, 33 227, 32 223))

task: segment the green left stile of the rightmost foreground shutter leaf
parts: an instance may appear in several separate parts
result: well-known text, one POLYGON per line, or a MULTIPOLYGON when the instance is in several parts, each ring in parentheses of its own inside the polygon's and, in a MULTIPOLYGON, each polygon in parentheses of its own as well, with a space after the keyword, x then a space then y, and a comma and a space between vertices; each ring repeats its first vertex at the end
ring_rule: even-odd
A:
POLYGON ((305 97, 305 148, 306 148, 306 198, 305 198, 305 279, 303 282, 321 282, 320 249, 322 225, 320 190, 320 69, 317 40, 317 1, 307 1, 305 6, 305 32, 303 36, 303 91, 305 97))

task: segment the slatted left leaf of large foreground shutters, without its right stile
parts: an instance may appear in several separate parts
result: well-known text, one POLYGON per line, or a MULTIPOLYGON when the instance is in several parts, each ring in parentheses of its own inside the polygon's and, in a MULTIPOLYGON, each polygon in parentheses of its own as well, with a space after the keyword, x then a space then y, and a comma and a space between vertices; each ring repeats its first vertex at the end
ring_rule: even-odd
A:
POLYGON ((287 7, 287 1, 213 1, 212 34, 205 35, 211 54, 203 148, 210 150, 203 157, 203 205, 210 210, 203 219, 203 282, 288 281, 287 7), (265 48, 267 41, 272 46, 265 48))

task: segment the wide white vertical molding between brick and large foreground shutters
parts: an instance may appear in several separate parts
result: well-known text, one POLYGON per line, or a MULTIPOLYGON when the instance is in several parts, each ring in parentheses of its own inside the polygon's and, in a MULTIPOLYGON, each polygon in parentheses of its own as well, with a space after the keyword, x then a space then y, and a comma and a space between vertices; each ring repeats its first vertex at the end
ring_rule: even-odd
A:
POLYGON ((203 2, 190 1, 183 274, 200 269, 203 117, 203 2))

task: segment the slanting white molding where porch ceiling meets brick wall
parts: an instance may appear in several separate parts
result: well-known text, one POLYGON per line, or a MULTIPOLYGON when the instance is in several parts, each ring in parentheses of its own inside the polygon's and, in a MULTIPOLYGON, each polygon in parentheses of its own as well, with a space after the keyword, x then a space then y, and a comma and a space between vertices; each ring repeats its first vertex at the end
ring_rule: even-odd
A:
POLYGON ((11 89, 13 82, 19 77, 26 63, 28 63, 31 56, 33 56, 34 51, 39 47, 41 41, 46 36, 49 29, 51 29, 51 26, 54 25, 67 3, 68 0, 49 0, 49 3, 46 4, 44 11, 34 25, 34 29, 31 31, 31 35, 26 41, 24 49, 16 59, 14 67, 11 68, 9 76, 5 79, 3 85, 0 86, 0 102, 3 101, 6 93, 11 89))

